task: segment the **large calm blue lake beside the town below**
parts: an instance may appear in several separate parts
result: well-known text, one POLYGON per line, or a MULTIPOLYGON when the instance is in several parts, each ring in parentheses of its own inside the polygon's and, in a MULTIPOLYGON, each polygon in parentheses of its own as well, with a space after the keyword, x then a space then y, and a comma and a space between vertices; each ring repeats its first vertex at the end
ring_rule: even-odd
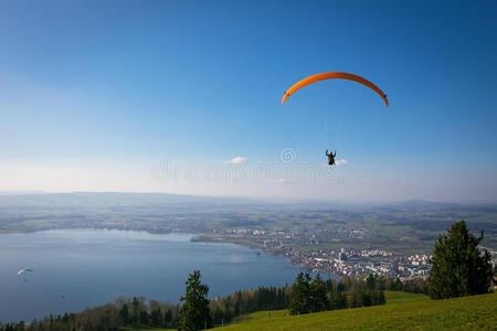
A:
POLYGON ((192 237, 112 229, 0 235, 0 321, 81 311, 119 296, 177 303, 194 269, 211 298, 292 284, 300 271, 286 257, 192 237), (18 276, 23 268, 34 271, 18 276))

